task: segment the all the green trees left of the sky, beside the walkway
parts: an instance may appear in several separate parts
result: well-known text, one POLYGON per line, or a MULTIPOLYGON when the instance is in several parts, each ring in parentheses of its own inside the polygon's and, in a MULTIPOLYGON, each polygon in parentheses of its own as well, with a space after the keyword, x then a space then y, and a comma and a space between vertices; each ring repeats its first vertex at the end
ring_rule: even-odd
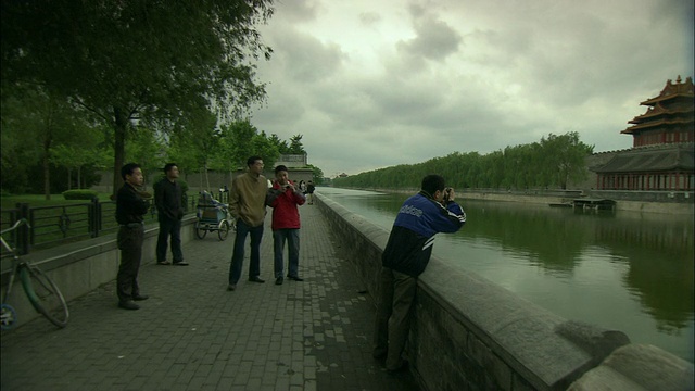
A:
POLYGON ((241 154, 281 153, 248 119, 266 94, 255 63, 273 50, 257 26, 271 4, 0 2, 2 188, 34 184, 23 167, 36 164, 49 197, 52 166, 113 167, 116 191, 126 160, 232 169, 241 154))

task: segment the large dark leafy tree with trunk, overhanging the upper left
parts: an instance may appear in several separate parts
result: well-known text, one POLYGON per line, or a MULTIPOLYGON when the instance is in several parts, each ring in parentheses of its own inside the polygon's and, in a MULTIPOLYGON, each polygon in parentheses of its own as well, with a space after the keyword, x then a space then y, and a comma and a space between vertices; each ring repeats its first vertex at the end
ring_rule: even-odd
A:
POLYGON ((108 124, 115 193, 129 133, 143 125, 169 130, 208 110, 235 118, 265 97, 253 62, 271 53, 256 30, 271 4, 2 1, 2 91, 36 83, 108 124))

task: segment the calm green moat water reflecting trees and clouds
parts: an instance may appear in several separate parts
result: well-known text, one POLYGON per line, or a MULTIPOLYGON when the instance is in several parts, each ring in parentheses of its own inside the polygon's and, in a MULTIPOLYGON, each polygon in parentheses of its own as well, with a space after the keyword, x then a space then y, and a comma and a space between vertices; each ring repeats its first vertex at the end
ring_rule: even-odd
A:
MULTIPOLYGON (((316 191, 387 230, 408 197, 316 191)), ((567 319, 621 330, 633 343, 693 362, 692 215, 457 201, 468 222, 457 234, 439 234, 434 255, 567 319)))

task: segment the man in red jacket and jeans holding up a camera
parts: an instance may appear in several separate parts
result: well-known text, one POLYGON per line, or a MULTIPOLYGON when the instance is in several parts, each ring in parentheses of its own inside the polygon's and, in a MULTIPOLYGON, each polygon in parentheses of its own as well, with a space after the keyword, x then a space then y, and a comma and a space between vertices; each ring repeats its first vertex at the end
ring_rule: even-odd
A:
POLYGON ((266 195, 266 205, 273 207, 273 243, 275 251, 275 285, 282 285, 285 241, 288 242, 289 266, 287 277, 302 281, 300 265, 300 211, 306 199, 302 191, 288 179, 283 165, 275 167, 275 181, 266 195))

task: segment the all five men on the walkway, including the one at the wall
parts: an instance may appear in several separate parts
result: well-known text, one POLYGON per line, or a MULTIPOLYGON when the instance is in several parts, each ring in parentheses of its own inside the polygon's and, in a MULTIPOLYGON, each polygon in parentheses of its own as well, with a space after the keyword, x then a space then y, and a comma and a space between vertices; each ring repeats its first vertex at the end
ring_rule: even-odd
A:
MULTIPOLYGON (((313 184, 306 190, 289 179, 288 168, 275 167, 275 180, 268 188, 263 176, 264 164, 261 156, 251 156, 247 161, 248 172, 232 180, 229 207, 237 218, 237 232, 229 267, 228 291, 237 290, 241 278, 244 258, 244 242, 251 237, 251 257, 249 281, 263 283, 261 278, 261 240, 266 215, 266 206, 273 207, 273 244, 275 283, 285 280, 283 249, 287 242, 289 266, 287 278, 302 281, 299 275, 300 214, 299 205, 313 202, 313 184)), ((178 167, 174 163, 165 166, 166 177, 157 182, 155 204, 159 211, 160 236, 157 238, 157 264, 166 261, 167 238, 172 238, 174 265, 187 265, 180 250, 180 187, 176 182, 178 167)), ((148 194, 138 189, 143 176, 137 164, 126 164, 122 169, 124 186, 116 198, 116 219, 119 224, 118 249, 121 266, 117 276, 118 305, 127 310, 137 310, 135 301, 147 300, 140 292, 137 276, 142 255, 144 227, 142 216, 147 213, 148 194)), ((452 188, 445 186, 439 175, 422 178, 420 191, 408 198, 400 209, 393 223, 387 247, 381 256, 379 291, 376 297, 372 355, 384 360, 390 373, 407 368, 403 357, 410 329, 413 303, 417 291, 418 276, 429 263, 434 236, 438 232, 456 232, 466 223, 466 213, 455 202, 452 188)))

